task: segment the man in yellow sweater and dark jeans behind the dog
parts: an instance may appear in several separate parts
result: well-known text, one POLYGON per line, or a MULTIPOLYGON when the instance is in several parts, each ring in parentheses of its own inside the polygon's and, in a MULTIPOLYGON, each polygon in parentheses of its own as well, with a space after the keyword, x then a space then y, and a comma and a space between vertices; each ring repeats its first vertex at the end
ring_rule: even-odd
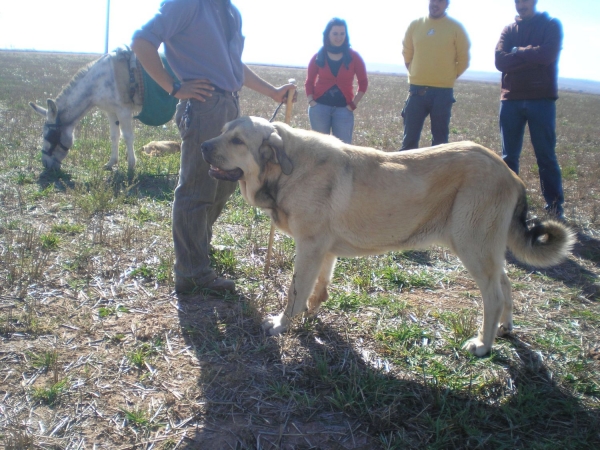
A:
POLYGON ((408 98, 402 110, 401 150, 419 147, 421 130, 431 118, 431 145, 448 142, 454 82, 469 67, 469 38, 463 26, 448 17, 449 0, 429 0, 429 16, 414 20, 402 41, 408 69, 408 98))

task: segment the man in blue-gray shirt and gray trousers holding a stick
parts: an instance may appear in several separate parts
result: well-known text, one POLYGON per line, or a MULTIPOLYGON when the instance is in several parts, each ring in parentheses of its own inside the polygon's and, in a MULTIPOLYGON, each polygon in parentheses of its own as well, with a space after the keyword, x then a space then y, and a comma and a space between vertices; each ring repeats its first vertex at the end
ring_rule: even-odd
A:
POLYGON ((242 20, 230 0, 167 0, 134 33, 131 47, 148 74, 180 99, 175 120, 182 139, 181 168, 172 226, 175 290, 233 292, 234 282, 217 276, 211 267, 209 248, 213 224, 237 183, 208 175, 200 144, 240 115, 237 92, 242 86, 276 102, 282 102, 293 86, 276 88, 242 62, 242 20), (181 82, 164 68, 160 44, 181 82))

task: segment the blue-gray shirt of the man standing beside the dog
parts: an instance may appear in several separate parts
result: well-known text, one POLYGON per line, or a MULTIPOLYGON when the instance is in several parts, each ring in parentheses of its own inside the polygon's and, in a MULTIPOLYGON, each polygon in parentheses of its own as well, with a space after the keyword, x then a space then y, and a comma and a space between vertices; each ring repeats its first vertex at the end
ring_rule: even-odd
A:
POLYGON ((221 89, 239 91, 244 84, 242 17, 229 0, 224 3, 225 17, 221 0, 166 0, 133 39, 156 48, 164 43, 167 61, 182 81, 207 78, 221 89))

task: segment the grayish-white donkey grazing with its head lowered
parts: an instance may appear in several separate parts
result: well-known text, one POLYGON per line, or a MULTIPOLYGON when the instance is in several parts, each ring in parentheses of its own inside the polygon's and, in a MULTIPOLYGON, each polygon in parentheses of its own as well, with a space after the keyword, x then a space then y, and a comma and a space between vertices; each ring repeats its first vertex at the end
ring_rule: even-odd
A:
POLYGON ((105 169, 112 169, 118 162, 119 134, 122 133, 127 145, 128 169, 133 171, 133 115, 143 105, 143 93, 136 81, 139 76, 133 52, 119 49, 79 70, 56 100, 48 99, 47 109, 30 102, 34 111, 46 119, 42 147, 44 167, 60 169, 73 145, 75 126, 90 109, 98 107, 106 112, 110 122, 112 152, 105 169))

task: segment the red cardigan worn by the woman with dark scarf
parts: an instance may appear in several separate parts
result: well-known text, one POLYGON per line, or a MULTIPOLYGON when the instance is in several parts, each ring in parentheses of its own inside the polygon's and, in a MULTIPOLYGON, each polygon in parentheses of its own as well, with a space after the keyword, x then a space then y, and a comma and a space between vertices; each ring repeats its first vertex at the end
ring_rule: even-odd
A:
POLYGON ((306 83, 304 83, 304 89, 306 95, 312 95, 313 99, 316 100, 321 97, 325 92, 331 89, 337 84, 342 94, 346 98, 348 104, 354 100, 354 75, 358 80, 358 92, 367 92, 367 86, 369 81, 367 79, 367 69, 365 62, 358 53, 354 50, 349 49, 352 61, 348 64, 348 68, 342 63, 338 76, 334 77, 329 68, 329 64, 325 61, 323 67, 317 66, 317 55, 313 56, 308 63, 308 75, 306 77, 306 83))

